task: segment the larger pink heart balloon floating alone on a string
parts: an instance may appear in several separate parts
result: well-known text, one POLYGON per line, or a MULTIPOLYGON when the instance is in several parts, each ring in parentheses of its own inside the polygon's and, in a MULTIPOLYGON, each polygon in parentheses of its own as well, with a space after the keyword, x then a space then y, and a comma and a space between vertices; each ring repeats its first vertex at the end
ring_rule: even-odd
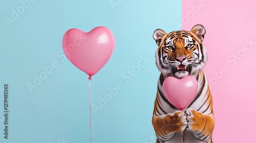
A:
POLYGON ((89 76, 95 75, 110 59, 115 46, 112 32, 96 27, 90 32, 68 30, 62 39, 63 51, 69 61, 89 76))

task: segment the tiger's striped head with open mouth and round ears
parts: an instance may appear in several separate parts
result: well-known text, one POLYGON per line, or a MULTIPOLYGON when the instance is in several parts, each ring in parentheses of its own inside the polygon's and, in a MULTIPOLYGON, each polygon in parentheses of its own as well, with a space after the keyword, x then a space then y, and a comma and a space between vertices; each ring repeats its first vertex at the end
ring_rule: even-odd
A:
POLYGON ((155 30, 153 38, 156 50, 156 65, 165 76, 181 79, 196 76, 207 61, 206 50, 202 44, 205 29, 194 26, 190 31, 173 31, 169 34, 161 29, 155 30))

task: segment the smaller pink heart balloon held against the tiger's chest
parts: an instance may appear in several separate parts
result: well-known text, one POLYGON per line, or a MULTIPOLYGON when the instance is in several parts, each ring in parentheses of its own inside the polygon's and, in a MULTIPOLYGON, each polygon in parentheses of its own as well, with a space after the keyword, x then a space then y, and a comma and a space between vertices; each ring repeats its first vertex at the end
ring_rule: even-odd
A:
POLYGON ((183 110, 196 96, 198 82, 192 76, 182 79, 167 77, 163 82, 163 93, 167 100, 183 110))

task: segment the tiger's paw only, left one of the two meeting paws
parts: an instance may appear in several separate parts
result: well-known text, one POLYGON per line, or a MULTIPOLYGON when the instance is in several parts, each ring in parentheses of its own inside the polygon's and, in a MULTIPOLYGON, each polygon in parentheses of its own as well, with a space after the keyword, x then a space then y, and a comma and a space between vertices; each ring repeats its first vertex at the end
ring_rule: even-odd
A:
POLYGON ((182 132, 187 127, 186 115, 182 111, 175 111, 174 113, 168 113, 165 116, 166 128, 170 132, 182 132))

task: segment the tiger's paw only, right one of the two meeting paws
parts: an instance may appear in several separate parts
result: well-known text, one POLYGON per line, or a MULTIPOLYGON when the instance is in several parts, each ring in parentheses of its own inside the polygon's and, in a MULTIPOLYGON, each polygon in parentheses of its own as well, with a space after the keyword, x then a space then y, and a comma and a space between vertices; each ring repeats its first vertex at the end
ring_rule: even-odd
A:
POLYGON ((187 114, 187 130, 194 132, 201 132, 204 129, 206 123, 206 117, 202 112, 198 112, 194 109, 188 108, 187 114))

